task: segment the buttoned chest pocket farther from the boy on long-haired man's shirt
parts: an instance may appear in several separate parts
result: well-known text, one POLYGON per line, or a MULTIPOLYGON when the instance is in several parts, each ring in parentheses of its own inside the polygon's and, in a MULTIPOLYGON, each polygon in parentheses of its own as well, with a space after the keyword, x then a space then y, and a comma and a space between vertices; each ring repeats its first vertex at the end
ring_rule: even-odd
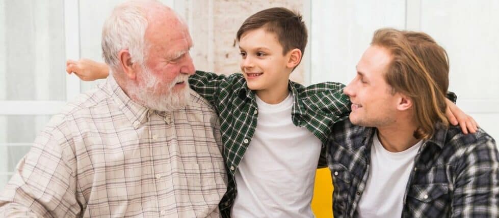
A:
POLYGON ((450 208, 449 184, 414 184, 407 194, 407 205, 412 212, 428 211, 431 217, 443 217, 450 208))

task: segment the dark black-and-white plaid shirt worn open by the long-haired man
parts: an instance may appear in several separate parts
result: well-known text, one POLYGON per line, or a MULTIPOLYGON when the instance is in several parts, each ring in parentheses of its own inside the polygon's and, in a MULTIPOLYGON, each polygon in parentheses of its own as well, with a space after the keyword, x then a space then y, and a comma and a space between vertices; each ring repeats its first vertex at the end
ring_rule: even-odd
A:
MULTIPOLYGON (((357 217, 370 170, 375 128, 334 125, 327 142, 334 217, 357 217)), ((499 154, 483 130, 438 128, 414 159, 402 217, 499 217, 499 154)))

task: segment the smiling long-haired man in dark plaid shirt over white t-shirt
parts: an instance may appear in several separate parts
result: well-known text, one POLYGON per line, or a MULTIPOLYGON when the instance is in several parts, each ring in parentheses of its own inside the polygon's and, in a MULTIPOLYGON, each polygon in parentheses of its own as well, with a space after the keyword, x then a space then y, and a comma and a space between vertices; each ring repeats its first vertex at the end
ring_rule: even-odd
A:
POLYGON ((449 126, 448 74, 430 36, 374 34, 344 89, 350 119, 327 144, 334 217, 499 217, 495 141, 449 126))

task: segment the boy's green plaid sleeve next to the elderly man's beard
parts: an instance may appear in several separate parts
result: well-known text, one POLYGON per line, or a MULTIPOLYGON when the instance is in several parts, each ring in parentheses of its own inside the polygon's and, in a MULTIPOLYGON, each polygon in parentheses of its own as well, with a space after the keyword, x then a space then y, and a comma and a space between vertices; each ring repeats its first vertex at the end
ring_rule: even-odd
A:
POLYGON ((226 80, 227 76, 225 75, 196 71, 194 75, 189 77, 189 85, 210 104, 216 105, 217 97, 220 96, 220 87, 226 80))

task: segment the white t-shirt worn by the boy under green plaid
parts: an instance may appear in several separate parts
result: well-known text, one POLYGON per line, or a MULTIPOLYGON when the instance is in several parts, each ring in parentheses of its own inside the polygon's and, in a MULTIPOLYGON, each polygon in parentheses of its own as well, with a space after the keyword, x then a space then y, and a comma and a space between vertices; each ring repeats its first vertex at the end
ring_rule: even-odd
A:
POLYGON ((270 105, 256 97, 255 134, 235 173, 232 217, 314 217, 310 202, 321 141, 291 118, 293 97, 270 105))

